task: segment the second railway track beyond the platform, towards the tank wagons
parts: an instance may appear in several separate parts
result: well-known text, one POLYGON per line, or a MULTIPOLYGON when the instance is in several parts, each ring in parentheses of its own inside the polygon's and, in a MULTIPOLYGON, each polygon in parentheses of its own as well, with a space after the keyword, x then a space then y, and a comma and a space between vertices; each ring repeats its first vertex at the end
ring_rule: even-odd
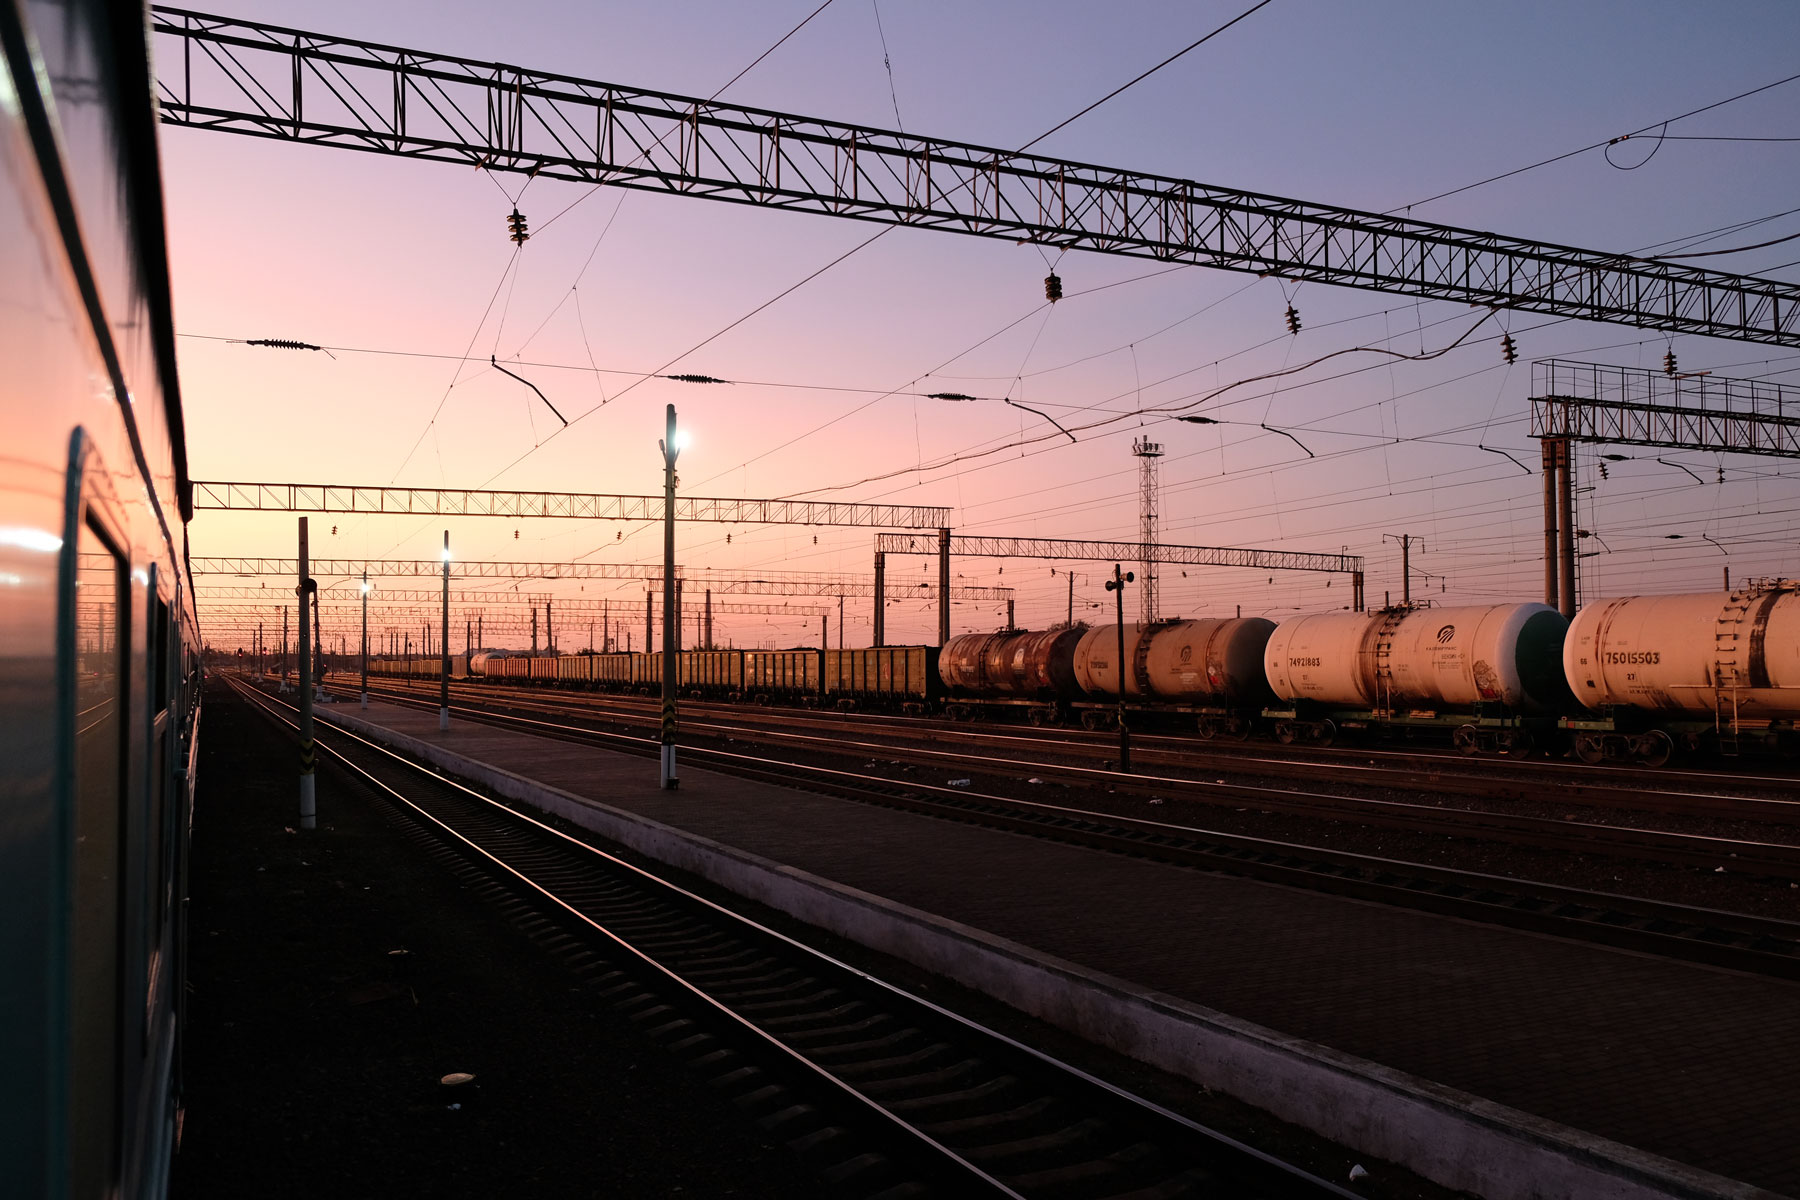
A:
MULTIPOLYGON (((509 691, 509 689, 508 689, 509 691)), ((535 712, 549 718, 567 718, 571 705, 551 694, 544 698, 518 698, 508 691, 463 691, 473 694, 488 705, 500 705, 515 712, 535 712)), ((407 694, 405 691, 385 691, 382 694, 407 694)), ((589 707, 589 705, 581 705, 589 707)), ((1449 808, 1417 801, 1377 799, 1354 795, 1341 790, 1312 788, 1274 788, 1264 784, 1231 783, 1226 779, 1201 779, 1190 774, 1163 775, 1138 770, 1121 775, 1107 766, 1084 766, 1080 763, 1058 763, 1060 747, 1044 738, 1022 738, 1015 734, 995 734, 977 743, 958 741, 954 748, 938 748, 936 734, 925 732, 918 738, 875 739, 859 738, 842 725, 833 725, 826 718, 824 727, 817 727, 817 718, 797 718, 812 725, 810 730, 792 730, 785 723, 788 714, 778 714, 781 725, 740 723, 736 714, 729 721, 709 716, 689 718, 682 723, 688 734, 702 734, 725 739, 760 741, 770 747, 792 750, 862 756, 878 761, 902 761, 916 766, 934 766, 950 774, 1039 779, 1055 781, 1067 786, 1105 786, 1123 795, 1147 799, 1179 797, 1204 804, 1249 804, 1262 811, 1278 811, 1298 817, 1323 820, 1355 820, 1364 826, 1402 829, 1408 833, 1431 833, 1462 838, 1485 838, 1510 842, 1517 846, 1561 849, 1575 855, 1609 855, 1615 858, 1667 862, 1687 867, 1741 871, 1750 874, 1769 874, 1782 880, 1800 880, 1800 846, 1789 842, 1766 842, 1750 838, 1724 838, 1697 833, 1672 833, 1663 829, 1643 829, 1595 820, 1568 820, 1519 815, 1501 810, 1449 808), (1001 757, 985 748, 997 745, 1017 757, 1001 757)), ((607 712, 605 720, 623 721, 650 729, 655 718, 648 712, 607 712)), ((900 727, 904 732, 904 725, 900 727)), ((887 730, 882 730, 887 732, 887 730)), ((1319 770, 1310 772, 1316 784, 1319 770)), ((1429 792, 1429 781, 1415 781, 1415 790, 1429 792)), ((1717 797, 1721 801, 1728 797, 1717 797)), ((1580 804, 1580 799, 1557 795, 1559 802, 1580 804)), ((1742 804, 1762 802, 1778 806, 1775 811, 1789 811, 1800 824, 1800 802, 1795 801, 1741 801, 1742 804)), ((1620 806, 1624 802, 1620 801, 1620 806)), ((1759 810, 1766 811, 1766 810, 1759 810)), ((1773 820, 1773 817, 1768 817, 1773 820)))

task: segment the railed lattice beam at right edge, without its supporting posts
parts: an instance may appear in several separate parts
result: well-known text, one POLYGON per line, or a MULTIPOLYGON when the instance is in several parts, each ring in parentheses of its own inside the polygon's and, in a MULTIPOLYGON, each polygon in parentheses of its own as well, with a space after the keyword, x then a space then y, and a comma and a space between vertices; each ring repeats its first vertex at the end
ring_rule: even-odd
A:
POLYGON ((1532 437, 1800 457, 1800 387, 1548 358, 1532 437))

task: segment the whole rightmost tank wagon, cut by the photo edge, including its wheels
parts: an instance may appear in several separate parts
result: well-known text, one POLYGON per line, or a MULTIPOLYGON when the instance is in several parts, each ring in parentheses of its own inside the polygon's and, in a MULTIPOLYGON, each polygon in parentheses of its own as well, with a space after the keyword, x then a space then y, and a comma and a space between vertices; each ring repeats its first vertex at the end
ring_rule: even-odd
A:
POLYGON ((1582 761, 1793 748, 1800 581, 1595 601, 1570 624, 1562 669, 1582 709, 1562 727, 1582 761))

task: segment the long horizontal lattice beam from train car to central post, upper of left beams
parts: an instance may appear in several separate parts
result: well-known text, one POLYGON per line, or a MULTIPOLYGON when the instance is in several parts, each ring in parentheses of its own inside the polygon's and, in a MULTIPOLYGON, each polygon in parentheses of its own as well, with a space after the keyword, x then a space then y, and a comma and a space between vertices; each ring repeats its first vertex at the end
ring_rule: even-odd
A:
MULTIPOLYGON (((475 488, 356 488, 349 484, 194 484, 194 509, 223 513, 385 513, 396 516, 509 516, 567 520, 662 520, 662 497, 475 488)), ((677 497, 675 520, 731 525, 857 525, 940 529, 950 509, 916 504, 833 500, 725 500, 677 497)))

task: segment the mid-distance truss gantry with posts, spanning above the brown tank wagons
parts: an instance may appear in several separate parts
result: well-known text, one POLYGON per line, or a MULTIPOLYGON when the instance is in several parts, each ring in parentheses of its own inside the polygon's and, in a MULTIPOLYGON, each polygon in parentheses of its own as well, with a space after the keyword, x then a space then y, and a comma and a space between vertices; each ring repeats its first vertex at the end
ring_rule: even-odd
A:
MULTIPOLYGON (((887 633, 884 581, 889 554, 936 554, 940 597, 950 579, 950 558, 1048 558, 1107 563, 1174 563, 1177 567, 1247 567, 1253 570, 1321 570, 1350 576, 1352 606, 1363 612, 1363 556, 1309 554, 1305 551, 1253 551, 1219 545, 1145 545, 1143 542, 1073 542, 1066 538, 983 538, 954 536, 940 529, 936 538, 904 533, 875 534, 875 644, 887 633)), ((938 601, 938 644, 950 640, 950 606, 938 601)))

